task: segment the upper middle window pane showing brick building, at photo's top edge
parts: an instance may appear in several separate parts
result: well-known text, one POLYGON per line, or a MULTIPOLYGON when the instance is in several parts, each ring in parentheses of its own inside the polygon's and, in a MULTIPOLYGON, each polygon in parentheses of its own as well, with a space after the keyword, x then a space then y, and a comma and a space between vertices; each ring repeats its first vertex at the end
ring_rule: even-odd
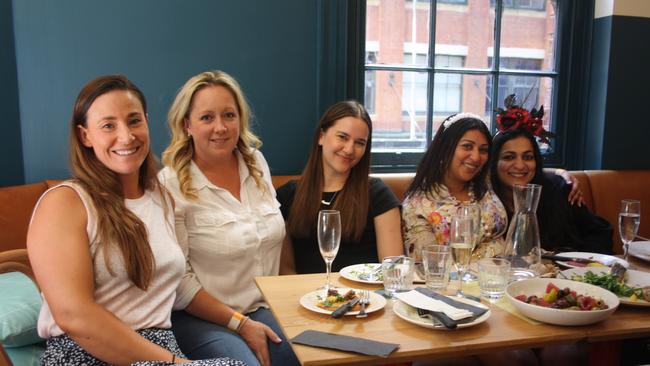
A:
MULTIPOLYGON (((494 45, 494 8, 487 1, 455 5, 438 3, 436 54, 461 56, 464 66, 490 68, 488 50, 494 45)), ((436 67, 445 67, 438 64, 436 67)))

